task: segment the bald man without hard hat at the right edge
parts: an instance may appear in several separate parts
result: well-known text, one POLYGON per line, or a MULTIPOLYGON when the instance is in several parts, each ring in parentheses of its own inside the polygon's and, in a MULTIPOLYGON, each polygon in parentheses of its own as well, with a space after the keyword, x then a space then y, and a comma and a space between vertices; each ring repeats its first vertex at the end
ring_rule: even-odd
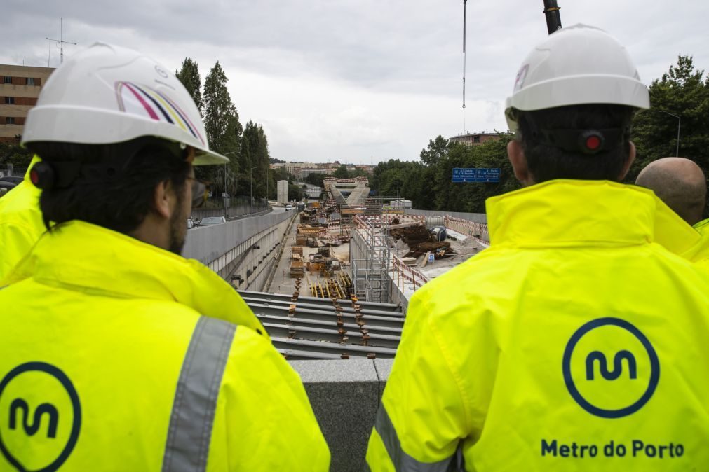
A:
POLYGON ((702 169, 690 159, 665 157, 647 164, 635 180, 649 188, 700 234, 700 241, 682 255, 704 269, 709 268, 709 219, 702 220, 707 181, 702 169))

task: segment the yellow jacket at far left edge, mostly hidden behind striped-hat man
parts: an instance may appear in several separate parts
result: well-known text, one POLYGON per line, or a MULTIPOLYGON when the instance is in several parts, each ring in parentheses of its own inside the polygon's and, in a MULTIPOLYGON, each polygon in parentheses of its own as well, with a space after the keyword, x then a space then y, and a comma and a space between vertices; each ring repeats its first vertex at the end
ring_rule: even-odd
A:
POLYGON ((25 180, 0 198, 0 287, 13 267, 46 231, 40 212, 40 189, 30 182, 30 163, 25 180))

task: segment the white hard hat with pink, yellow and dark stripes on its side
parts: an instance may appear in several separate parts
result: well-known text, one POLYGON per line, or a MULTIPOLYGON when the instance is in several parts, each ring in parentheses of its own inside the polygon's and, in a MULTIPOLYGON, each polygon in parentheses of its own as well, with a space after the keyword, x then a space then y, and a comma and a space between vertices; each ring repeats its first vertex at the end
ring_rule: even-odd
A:
POLYGON ((50 75, 22 142, 113 144, 152 136, 191 146, 194 165, 228 159, 209 150, 199 110, 169 69, 140 52, 96 42, 50 75))

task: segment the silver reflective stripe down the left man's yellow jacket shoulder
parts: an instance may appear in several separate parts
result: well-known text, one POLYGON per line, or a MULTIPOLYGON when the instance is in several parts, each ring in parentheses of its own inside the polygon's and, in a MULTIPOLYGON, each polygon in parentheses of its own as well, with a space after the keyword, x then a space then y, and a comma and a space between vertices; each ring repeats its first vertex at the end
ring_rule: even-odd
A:
POLYGON ((201 316, 177 381, 163 472, 206 470, 219 386, 236 326, 201 316))

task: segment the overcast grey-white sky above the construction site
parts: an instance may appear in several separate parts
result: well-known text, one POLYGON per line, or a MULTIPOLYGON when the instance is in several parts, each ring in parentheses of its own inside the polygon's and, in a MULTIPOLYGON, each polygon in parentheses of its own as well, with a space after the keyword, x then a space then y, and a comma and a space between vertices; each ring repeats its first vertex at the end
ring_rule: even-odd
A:
MULTIPOLYGON (((462 0, 4 0, 0 63, 59 64, 97 40, 175 70, 218 60, 242 123, 263 125, 289 161, 418 159, 429 139, 463 132, 462 0)), ((608 30, 642 80, 679 54, 709 69, 709 1, 559 0, 564 25, 608 30)), ((503 104, 530 48, 547 35, 542 0, 467 2, 465 129, 506 129, 503 104)))

